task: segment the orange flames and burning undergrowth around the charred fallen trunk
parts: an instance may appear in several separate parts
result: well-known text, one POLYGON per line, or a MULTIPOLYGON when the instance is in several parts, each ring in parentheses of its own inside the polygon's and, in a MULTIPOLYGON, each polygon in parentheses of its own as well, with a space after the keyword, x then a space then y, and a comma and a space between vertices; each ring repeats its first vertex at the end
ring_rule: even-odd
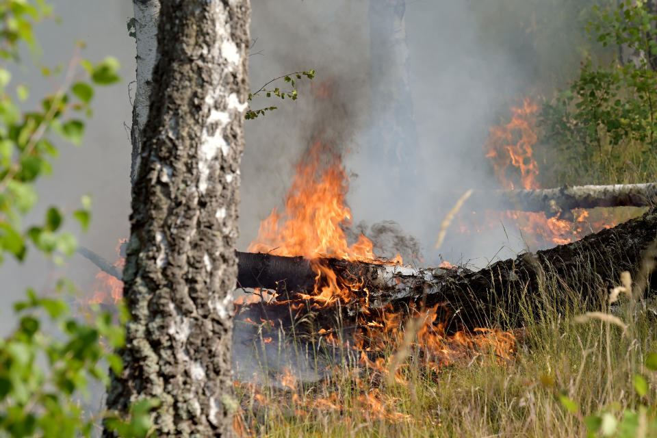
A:
MULTIPOLYGON (((272 400, 294 415, 331 410, 348 417, 352 409, 365 409, 379 420, 409 422, 398 406, 401 399, 382 391, 382 385, 405 385, 414 375, 411 368, 437 376, 445 366, 466 365, 476 357, 513 359, 513 333, 454 326, 446 303, 428 304, 414 284, 398 287, 415 292, 408 299, 382 299, 383 292, 417 272, 402 265, 400 254, 377 257, 376 246, 390 245, 375 245, 355 232, 344 201, 347 190, 340 155, 315 142, 296 167, 285 211, 274 209, 248 248, 302 255, 315 283, 306 291, 256 290, 256 298, 235 302, 233 355, 243 382, 237 385, 248 400, 238 424, 243 433, 254 433, 272 400), (356 391, 349 396, 336 384, 345 379, 356 391)), ((376 229, 389 237, 394 226, 376 229)), ((424 270, 422 284, 436 274, 459 275, 461 269, 424 270)))

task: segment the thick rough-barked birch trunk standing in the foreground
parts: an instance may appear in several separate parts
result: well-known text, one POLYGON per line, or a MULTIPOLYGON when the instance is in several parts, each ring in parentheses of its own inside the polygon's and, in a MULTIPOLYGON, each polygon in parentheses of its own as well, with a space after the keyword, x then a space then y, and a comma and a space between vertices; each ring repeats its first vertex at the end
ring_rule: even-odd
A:
POLYGON ((107 407, 125 415, 132 402, 157 398, 156 436, 229 436, 250 6, 160 3, 123 273, 132 319, 107 407))

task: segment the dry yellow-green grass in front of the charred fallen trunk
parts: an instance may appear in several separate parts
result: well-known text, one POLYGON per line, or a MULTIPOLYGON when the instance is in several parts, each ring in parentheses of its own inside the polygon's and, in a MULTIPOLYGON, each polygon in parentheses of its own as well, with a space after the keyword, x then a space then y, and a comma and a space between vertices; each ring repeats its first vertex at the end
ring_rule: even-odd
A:
MULTIPOLYGON (((549 280, 545 299, 568 293, 549 280)), ((291 378, 287 389, 242 385, 244 435, 576 437, 586 436, 584 417, 592 413, 620 419, 645 404, 657 415, 657 373, 643 366, 646 355, 657 352, 657 305, 623 294, 613 309, 600 309, 626 324, 625 331, 608 316, 582 322, 577 317, 586 310, 548 306, 539 313, 526 303, 524 340, 511 361, 491 352, 428 371, 419 350, 402 342, 409 351, 398 379, 335 365, 320 383, 291 378), (634 387, 637 373, 647 378, 645 396, 634 387), (567 409, 566 398, 578 411, 567 409)))

